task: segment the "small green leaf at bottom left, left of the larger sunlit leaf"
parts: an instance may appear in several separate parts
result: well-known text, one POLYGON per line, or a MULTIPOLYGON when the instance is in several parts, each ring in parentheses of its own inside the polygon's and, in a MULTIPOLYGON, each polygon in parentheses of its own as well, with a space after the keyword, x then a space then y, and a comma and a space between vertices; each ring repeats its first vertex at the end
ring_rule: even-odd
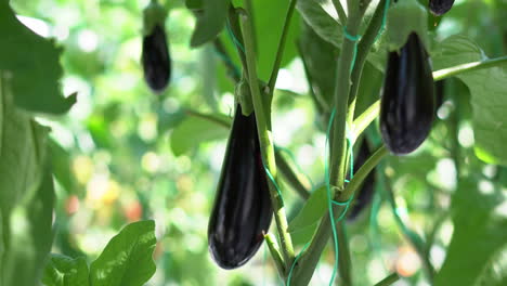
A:
POLYGON ((89 286, 88 276, 86 258, 73 259, 62 255, 51 255, 46 264, 42 283, 46 286, 89 286))

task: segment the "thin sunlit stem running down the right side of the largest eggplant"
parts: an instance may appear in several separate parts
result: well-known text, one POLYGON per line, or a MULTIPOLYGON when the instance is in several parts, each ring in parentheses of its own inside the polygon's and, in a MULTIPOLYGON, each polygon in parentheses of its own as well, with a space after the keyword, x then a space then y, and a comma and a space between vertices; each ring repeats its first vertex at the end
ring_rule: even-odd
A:
MULTIPOLYGON (((265 168, 271 172, 274 180, 277 178, 276 162, 274 156, 274 147, 272 141, 271 129, 268 125, 270 121, 270 114, 264 113, 262 103, 262 95, 259 89, 259 82, 257 77, 256 55, 253 52, 253 24, 251 17, 248 16, 247 12, 240 10, 240 20, 245 32, 245 51, 248 68, 248 80, 250 83, 250 92, 253 102, 253 109, 256 112, 257 128, 259 132, 259 143, 261 147, 262 161, 265 168)), ((290 234, 287 232, 287 217, 285 214, 284 200, 278 194, 274 182, 270 180, 270 194, 271 202, 273 205, 273 211, 276 222, 276 229, 280 235, 280 243, 282 247, 282 255, 284 262, 286 263, 285 269, 289 269, 290 263, 294 261, 294 248, 290 234)))

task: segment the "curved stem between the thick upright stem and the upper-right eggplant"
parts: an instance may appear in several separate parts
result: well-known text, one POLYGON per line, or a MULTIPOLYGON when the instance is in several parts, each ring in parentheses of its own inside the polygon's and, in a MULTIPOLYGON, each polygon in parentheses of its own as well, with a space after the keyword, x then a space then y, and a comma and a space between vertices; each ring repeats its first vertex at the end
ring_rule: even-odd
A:
POLYGON ((349 121, 352 121, 352 118, 354 118, 355 102, 360 88, 361 75, 363 74, 363 67, 366 63, 366 57, 384 25, 386 1, 387 0, 380 0, 378 3, 369 25, 358 44, 358 55, 355 57, 355 65, 351 76, 352 87, 349 94, 349 121))

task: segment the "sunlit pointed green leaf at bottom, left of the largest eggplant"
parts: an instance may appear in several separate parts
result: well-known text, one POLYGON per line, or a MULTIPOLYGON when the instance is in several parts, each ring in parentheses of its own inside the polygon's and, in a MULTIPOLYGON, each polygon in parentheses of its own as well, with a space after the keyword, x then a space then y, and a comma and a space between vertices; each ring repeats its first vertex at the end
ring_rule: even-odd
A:
POLYGON ((141 286, 155 273, 155 222, 138 221, 113 237, 90 265, 93 286, 141 286))

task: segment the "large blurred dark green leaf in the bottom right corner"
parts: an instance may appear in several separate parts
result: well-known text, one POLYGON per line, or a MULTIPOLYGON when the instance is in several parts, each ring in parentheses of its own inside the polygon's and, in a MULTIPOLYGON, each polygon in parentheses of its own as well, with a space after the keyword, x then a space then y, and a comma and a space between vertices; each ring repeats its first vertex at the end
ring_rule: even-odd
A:
POLYGON ((498 249, 507 245, 507 218, 499 185, 492 194, 480 193, 477 182, 461 178, 452 200, 454 233, 434 285, 476 285, 498 249))

